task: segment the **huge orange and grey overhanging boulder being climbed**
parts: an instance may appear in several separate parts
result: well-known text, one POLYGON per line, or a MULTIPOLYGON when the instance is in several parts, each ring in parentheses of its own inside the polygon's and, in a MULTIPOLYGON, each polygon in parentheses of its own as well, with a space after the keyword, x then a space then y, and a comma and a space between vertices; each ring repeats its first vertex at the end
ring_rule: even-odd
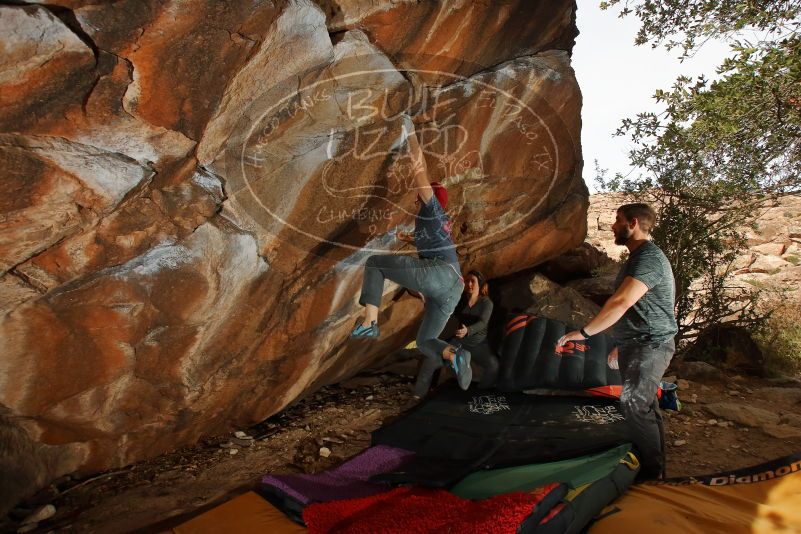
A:
POLYGON ((574 10, 0 6, 0 479, 23 481, 0 508, 260 421, 405 345, 422 308, 393 284, 382 339, 348 332, 366 257, 415 253, 395 239, 414 223, 410 135, 463 269, 578 245, 574 10))

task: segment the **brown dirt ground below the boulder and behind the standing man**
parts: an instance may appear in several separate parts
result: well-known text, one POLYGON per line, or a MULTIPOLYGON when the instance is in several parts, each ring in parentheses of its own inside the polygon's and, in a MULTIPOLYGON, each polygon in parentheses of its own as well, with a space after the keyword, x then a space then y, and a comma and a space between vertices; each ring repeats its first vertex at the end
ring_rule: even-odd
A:
MULTIPOLYGON (((240 429, 252 440, 217 436, 125 469, 60 481, 25 503, 27 509, 15 510, 0 528, 16 532, 16 521, 25 513, 51 503, 55 516, 34 532, 160 532, 247 491, 265 473, 333 467, 368 447, 370 432, 400 412, 412 381, 410 365, 365 372, 326 387, 258 425, 240 429), (323 447, 330 456, 321 456, 323 447)), ((682 378, 681 373, 669 374, 682 378)), ((720 372, 705 380, 682 380, 681 385, 683 409, 665 412, 669 476, 745 467, 801 451, 799 437, 772 437, 759 425, 731 423, 706 408, 724 402, 797 413, 798 381, 720 372), (760 398, 762 391, 779 394, 769 400, 760 398)))

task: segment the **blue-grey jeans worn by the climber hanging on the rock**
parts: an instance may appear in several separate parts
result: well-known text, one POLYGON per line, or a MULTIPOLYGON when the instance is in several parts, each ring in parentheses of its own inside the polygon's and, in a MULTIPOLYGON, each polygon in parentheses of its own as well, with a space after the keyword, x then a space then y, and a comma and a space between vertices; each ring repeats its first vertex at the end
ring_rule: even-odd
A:
POLYGON ((379 307, 387 279, 421 293, 426 299, 423 322, 417 331, 417 348, 423 353, 423 365, 413 388, 413 393, 422 397, 428 393, 434 373, 442 366, 442 351, 448 344, 439 339, 439 335, 459 302, 464 281, 453 267, 439 258, 374 255, 367 258, 364 267, 359 303, 379 307))

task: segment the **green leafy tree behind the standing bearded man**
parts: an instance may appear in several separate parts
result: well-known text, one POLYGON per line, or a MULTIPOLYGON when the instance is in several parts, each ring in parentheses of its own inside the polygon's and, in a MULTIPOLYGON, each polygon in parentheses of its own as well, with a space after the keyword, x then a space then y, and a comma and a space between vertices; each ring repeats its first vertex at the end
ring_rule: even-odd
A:
POLYGON ((640 19, 636 44, 686 57, 711 38, 730 43, 716 79, 679 77, 654 95, 663 112, 623 121, 636 171, 598 182, 660 211, 654 240, 674 267, 679 339, 715 323, 756 326, 759 295, 727 280, 741 229, 771 198, 801 190, 801 1, 601 2, 616 5, 640 19))

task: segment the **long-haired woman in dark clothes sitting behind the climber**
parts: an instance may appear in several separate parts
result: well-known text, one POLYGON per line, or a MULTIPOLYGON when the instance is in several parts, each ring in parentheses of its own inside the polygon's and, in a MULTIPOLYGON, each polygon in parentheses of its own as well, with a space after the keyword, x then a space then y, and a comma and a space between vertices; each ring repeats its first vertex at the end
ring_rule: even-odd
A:
POLYGON ((470 271, 465 276, 465 291, 456 306, 454 317, 459 321, 454 336, 448 341, 446 349, 452 352, 462 347, 470 352, 472 361, 484 369, 480 388, 490 388, 498 378, 498 357, 492 351, 487 339, 487 327, 492 315, 492 301, 489 298, 489 285, 479 271, 470 271))

